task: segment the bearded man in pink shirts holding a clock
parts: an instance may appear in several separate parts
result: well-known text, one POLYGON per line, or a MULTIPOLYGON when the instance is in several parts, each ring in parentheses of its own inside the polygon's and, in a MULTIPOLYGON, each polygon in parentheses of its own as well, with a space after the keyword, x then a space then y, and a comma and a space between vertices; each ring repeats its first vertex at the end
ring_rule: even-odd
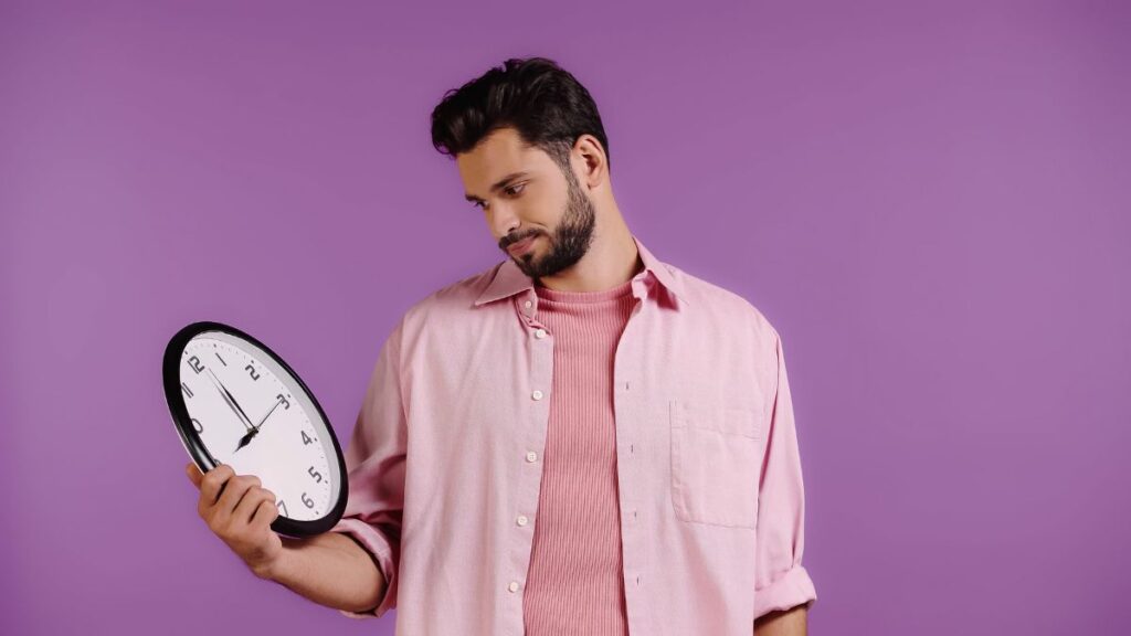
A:
POLYGON ((629 231, 596 105, 551 60, 449 92, 432 138, 509 258, 386 340, 331 532, 282 539, 258 479, 190 464, 209 527, 318 603, 396 607, 397 634, 804 635, 777 332, 629 231))

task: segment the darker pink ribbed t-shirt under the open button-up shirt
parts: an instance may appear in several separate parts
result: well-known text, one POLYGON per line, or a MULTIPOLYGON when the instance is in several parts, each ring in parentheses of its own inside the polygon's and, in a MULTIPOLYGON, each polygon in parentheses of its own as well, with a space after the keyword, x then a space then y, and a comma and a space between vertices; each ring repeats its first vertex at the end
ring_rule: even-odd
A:
POLYGON ((613 355, 636 298, 536 286, 554 338, 550 424, 523 596, 526 636, 627 636, 613 355))

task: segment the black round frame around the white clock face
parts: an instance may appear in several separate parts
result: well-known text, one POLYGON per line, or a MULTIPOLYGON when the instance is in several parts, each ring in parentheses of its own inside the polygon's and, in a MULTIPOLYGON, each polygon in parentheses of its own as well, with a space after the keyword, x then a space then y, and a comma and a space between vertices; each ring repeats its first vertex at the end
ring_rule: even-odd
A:
POLYGON ((189 456, 193 462, 196 462, 202 473, 206 473, 219 465, 219 462, 217 462, 216 458, 208 453, 208 448, 204 445, 200 436, 197 435, 196 429, 192 427, 192 421, 189 418, 189 410, 184 404, 184 396, 181 393, 181 354, 184 352, 184 347, 188 346, 189 341, 200 334, 209 332, 221 332, 245 340, 258 346, 267 355, 270 355, 284 371, 290 373, 291 377, 299 383, 299 387, 305 392, 307 397, 310 398, 311 404, 314 405, 314 409, 318 410, 318 414, 322 418, 322 421, 326 422, 326 430, 330 436, 330 442, 334 445, 334 452, 338 457, 338 483, 340 484, 338 488, 338 500, 334 502, 334 506, 326 515, 312 521, 293 519, 280 513, 278 517, 271 522, 271 530, 288 536, 313 536, 329 531, 338 523, 343 513, 345 513, 346 500, 349 495, 349 483, 346 476, 345 461, 342 456, 342 447, 338 445, 338 438, 334 433, 334 427, 330 424, 329 418, 327 418, 326 412, 322 411, 322 405, 318 403, 318 398, 316 398, 314 394, 307 387, 307 383, 302 381, 299 373, 296 373, 294 369, 286 363, 286 361, 271 351, 269 346, 259 342, 250 334, 223 323, 204 320, 187 325, 181 328, 181 330, 176 332, 165 346, 165 355, 162 360, 165 401, 169 403, 169 412, 173 416, 173 424, 176 428, 178 435, 181 436, 181 441, 184 442, 184 448, 189 452, 189 456))

